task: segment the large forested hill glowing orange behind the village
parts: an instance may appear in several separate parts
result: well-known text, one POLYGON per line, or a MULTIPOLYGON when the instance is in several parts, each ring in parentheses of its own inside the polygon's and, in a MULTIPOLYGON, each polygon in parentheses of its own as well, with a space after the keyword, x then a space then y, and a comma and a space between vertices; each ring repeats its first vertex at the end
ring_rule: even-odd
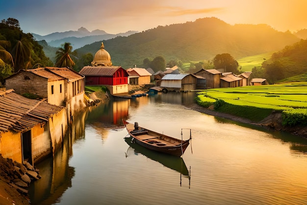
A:
MULTIPOLYGON (((278 51, 298 42, 290 32, 280 32, 267 25, 230 25, 217 18, 159 26, 128 37, 103 41, 114 65, 125 68, 142 65, 143 59, 162 56, 171 59, 201 61, 229 53, 235 59, 278 51)), ((78 54, 99 50, 100 42, 77 49, 78 54)))

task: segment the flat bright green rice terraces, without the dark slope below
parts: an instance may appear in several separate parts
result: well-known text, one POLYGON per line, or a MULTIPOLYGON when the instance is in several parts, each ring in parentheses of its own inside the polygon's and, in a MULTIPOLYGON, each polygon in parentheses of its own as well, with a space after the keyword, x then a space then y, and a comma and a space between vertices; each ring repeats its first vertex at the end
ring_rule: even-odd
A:
POLYGON ((222 99, 233 105, 273 110, 307 109, 307 82, 268 86, 215 88, 199 92, 201 101, 222 99))

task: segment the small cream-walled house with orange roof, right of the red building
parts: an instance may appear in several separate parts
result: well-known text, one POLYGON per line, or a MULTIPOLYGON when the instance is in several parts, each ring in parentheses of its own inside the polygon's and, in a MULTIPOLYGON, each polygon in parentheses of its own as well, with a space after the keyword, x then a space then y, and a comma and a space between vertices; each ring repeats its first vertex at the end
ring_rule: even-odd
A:
POLYGON ((150 84, 152 74, 145 68, 128 68, 128 82, 130 85, 150 84))

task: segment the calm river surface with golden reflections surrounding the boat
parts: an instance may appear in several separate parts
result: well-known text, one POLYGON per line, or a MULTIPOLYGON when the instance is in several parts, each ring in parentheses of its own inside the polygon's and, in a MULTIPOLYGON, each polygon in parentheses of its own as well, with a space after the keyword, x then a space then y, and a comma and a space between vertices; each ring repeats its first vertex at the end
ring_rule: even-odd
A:
POLYGON ((109 101, 77 119, 37 164, 32 205, 305 205, 307 141, 187 109, 193 93, 109 101), (182 160, 130 147, 122 118, 181 138, 182 160), (189 130, 183 130, 183 139, 189 130))

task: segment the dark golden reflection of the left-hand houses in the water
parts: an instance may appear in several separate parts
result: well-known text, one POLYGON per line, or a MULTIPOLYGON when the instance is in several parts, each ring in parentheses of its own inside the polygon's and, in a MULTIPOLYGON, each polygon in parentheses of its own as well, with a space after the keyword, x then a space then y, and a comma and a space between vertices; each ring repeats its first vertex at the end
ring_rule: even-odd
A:
POLYGON ((62 194, 72 186, 75 168, 69 166, 69 158, 73 155, 73 144, 84 139, 84 121, 87 112, 74 118, 64 137, 63 145, 54 153, 53 158, 45 159, 36 165, 41 179, 29 186, 29 197, 33 205, 51 205, 58 202, 62 194))

